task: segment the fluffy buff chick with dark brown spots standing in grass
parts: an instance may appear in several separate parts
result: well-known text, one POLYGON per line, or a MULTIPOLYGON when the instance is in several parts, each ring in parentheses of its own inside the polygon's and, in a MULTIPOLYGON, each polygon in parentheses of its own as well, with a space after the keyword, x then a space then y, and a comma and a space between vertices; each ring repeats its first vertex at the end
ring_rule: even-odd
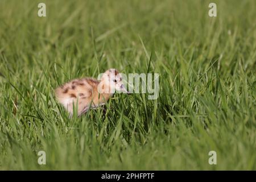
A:
POLYGON ((94 78, 75 79, 55 89, 57 101, 67 109, 69 117, 73 115, 73 106, 77 106, 78 116, 90 108, 105 105, 115 91, 129 93, 123 86, 121 74, 116 69, 103 73, 101 80, 94 78))

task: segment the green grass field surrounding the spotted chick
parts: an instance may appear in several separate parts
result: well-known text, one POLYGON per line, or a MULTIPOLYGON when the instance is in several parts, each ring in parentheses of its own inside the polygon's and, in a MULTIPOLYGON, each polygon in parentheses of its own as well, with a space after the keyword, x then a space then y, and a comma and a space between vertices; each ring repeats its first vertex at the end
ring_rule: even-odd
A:
POLYGON ((254 0, 1 0, 0 169, 255 170, 255 9, 254 0), (108 68, 159 73, 158 99, 114 94, 106 114, 69 119, 54 89, 108 68))

